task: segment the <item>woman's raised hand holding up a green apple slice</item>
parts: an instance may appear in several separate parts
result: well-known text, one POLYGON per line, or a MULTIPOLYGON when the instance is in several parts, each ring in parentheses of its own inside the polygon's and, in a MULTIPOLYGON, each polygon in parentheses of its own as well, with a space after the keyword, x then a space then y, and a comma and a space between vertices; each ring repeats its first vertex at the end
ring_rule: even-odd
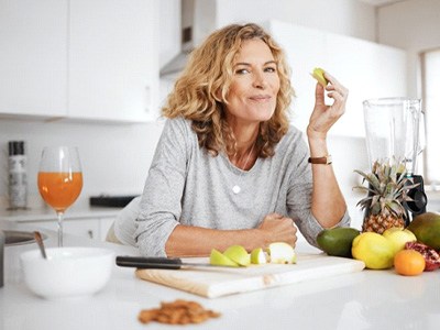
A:
POLYGON ((317 84, 315 108, 307 128, 307 135, 309 139, 326 139, 327 132, 345 112, 349 90, 328 73, 324 73, 324 77, 329 80, 329 84, 326 86, 326 90, 328 91, 327 96, 334 101, 333 105, 327 106, 324 102, 324 88, 322 85, 317 84))

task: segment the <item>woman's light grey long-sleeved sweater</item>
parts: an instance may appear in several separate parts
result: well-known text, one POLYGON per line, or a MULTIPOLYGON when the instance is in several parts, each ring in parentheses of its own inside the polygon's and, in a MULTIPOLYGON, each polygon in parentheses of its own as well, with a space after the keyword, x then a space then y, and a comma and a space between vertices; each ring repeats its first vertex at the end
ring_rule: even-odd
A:
MULTIPOLYGON (((293 218, 306 240, 316 245, 322 227, 310 211, 308 155, 302 134, 290 127, 273 157, 257 158, 250 170, 242 170, 223 153, 213 157, 200 148, 190 121, 167 120, 138 202, 134 239, 141 254, 165 256, 165 243, 179 223, 250 229, 272 212, 293 218), (241 188, 239 194, 232 190, 235 185, 241 188)), ((338 226, 349 224, 345 213, 338 226)))

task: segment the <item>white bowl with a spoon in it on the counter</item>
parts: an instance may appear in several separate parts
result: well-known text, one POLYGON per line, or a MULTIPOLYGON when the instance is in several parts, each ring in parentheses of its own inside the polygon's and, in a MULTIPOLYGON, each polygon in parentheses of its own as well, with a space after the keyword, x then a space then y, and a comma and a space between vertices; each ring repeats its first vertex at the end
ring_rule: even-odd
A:
POLYGON ((51 248, 20 255, 24 283, 36 295, 57 299, 91 296, 110 279, 114 253, 99 248, 51 248))

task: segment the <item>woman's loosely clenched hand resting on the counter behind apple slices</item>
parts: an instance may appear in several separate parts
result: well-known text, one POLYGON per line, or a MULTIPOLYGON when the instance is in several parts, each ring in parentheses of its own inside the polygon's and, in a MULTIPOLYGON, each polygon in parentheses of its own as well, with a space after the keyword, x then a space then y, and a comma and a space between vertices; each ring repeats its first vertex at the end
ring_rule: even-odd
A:
POLYGON ((258 230, 263 232, 266 244, 273 242, 286 242, 292 246, 296 244, 296 232, 294 220, 278 213, 267 215, 260 224, 258 230))

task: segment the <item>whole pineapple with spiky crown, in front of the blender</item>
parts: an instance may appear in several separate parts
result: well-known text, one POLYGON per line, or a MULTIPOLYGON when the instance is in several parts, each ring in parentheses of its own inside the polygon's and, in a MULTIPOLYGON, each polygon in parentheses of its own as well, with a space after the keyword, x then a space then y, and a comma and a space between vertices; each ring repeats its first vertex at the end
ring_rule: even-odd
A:
POLYGON ((364 213, 362 231, 373 231, 382 234, 392 227, 405 227, 408 217, 404 202, 413 199, 407 195, 410 189, 417 187, 411 178, 406 176, 406 167, 402 162, 374 162, 372 173, 365 174, 355 169, 363 177, 362 183, 367 182, 369 187, 356 186, 354 188, 369 193, 356 206, 364 213))

